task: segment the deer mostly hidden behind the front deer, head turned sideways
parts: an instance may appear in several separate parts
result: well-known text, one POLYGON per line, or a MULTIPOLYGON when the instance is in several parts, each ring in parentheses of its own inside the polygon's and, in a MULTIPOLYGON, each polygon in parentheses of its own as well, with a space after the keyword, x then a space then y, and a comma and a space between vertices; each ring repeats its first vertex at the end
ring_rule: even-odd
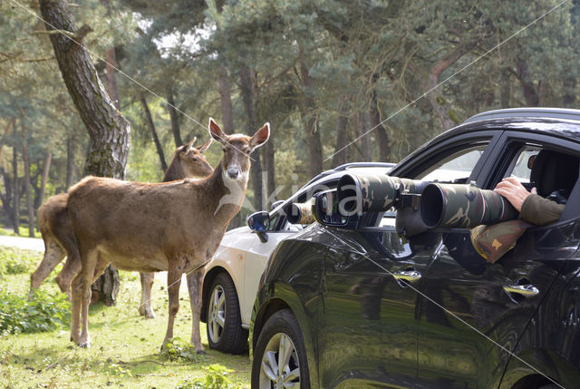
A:
MULTIPOLYGON (((200 146, 194 146, 197 138, 179 146, 174 154, 169 168, 165 172, 163 182, 182 180, 188 177, 206 177, 213 172, 203 153, 208 150, 212 138, 200 146)), ((67 297, 71 298, 71 281, 81 271, 81 261, 73 233, 73 225, 68 217, 68 194, 60 193, 46 200, 38 209, 38 224, 44 241, 44 256, 38 268, 30 276, 29 297, 48 277, 54 267, 66 257, 63 270, 56 277, 56 283, 67 297)), ((140 273, 141 299, 139 313, 147 318, 154 318, 151 307, 151 288, 154 273, 140 273)))

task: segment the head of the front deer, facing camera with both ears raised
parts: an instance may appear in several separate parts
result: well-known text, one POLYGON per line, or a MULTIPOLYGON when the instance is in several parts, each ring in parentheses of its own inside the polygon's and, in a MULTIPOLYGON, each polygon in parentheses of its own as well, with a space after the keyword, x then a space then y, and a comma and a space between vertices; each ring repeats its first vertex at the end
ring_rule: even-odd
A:
POLYGON ((227 180, 247 180, 250 170, 250 154, 262 146, 270 137, 270 123, 264 124, 254 136, 227 135, 213 119, 209 118, 209 133, 222 144, 224 157, 221 160, 222 176, 227 180))

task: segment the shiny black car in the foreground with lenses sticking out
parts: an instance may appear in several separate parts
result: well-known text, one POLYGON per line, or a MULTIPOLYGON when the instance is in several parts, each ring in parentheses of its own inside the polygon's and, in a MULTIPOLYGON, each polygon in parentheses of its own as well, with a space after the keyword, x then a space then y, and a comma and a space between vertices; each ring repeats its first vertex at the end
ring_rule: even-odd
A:
POLYGON ((485 112, 414 151, 391 177, 480 189, 516 177, 566 190, 562 219, 495 263, 469 229, 405 237, 396 211, 314 223, 260 281, 252 387, 580 387, 579 167, 575 110, 485 112))

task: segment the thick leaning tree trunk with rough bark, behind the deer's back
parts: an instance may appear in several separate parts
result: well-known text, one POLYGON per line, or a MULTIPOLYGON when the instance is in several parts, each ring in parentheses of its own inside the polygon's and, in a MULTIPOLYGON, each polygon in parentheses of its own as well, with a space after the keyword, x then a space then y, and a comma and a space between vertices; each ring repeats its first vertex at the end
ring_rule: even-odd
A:
MULTIPOLYGON (((85 174, 124 179, 129 155, 130 123, 115 108, 102 86, 92 58, 82 40, 92 30, 76 27, 67 3, 63 0, 39 0, 46 29, 54 28, 74 34, 73 41, 63 34, 51 34, 54 54, 82 122, 89 132, 89 155, 85 174)), ((101 298, 106 305, 115 304, 119 290, 117 270, 105 270, 110 282, 103 282, 107 290, 101 298)))

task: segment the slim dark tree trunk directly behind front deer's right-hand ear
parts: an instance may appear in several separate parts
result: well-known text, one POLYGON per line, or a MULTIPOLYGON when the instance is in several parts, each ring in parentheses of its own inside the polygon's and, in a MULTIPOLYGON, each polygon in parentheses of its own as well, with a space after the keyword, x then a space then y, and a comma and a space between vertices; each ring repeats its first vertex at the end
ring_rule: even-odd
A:
MULTIPOLYGON (((250 69, 246 63, 242 63, 239 69, 240 89, 242 100, 247 114, 247 134, 252 135, 257 129, 256 110, 254 109, 254 84, 250 69)), ((260 162, 260 149, 252 154, 251 188, 254 190, 254 208, 263 209, 263 190, 262 190, 262 163, 260 162)))

